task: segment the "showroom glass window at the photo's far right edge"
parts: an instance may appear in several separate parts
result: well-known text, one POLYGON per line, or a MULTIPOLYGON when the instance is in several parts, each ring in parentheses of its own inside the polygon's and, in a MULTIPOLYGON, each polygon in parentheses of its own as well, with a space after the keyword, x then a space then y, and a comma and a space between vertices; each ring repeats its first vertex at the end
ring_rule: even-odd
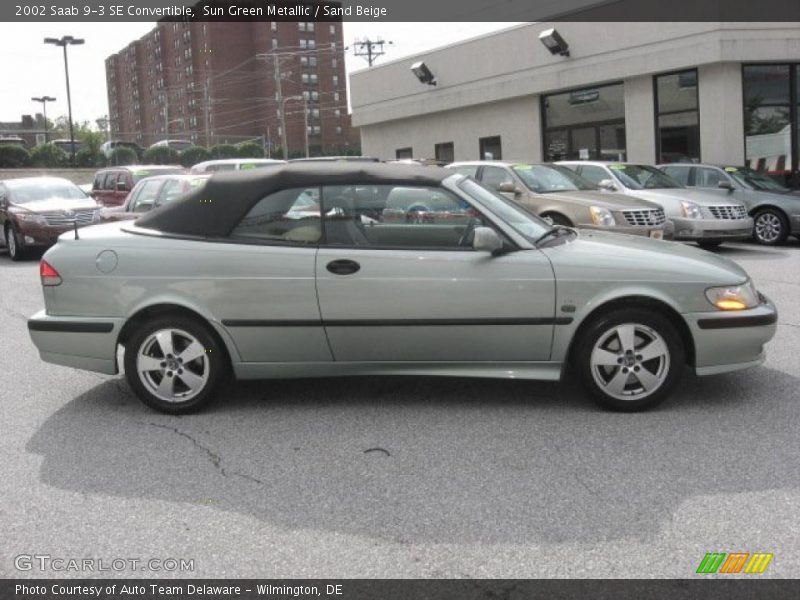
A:
POLYGON ((742 67, 745 162, 795 186, 800 146, 798 71, 797 64, 742 67))

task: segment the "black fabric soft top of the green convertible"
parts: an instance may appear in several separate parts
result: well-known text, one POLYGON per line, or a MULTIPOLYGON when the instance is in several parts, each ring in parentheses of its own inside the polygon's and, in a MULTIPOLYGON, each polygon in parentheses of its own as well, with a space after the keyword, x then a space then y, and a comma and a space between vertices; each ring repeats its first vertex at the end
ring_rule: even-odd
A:
POLYGON ((321 185, 438 186, 453 171, 381 163, 295 163, 214 175, 202 188, 136 220, 136 227, 177 235, 222 237, 264 196, 321 185))

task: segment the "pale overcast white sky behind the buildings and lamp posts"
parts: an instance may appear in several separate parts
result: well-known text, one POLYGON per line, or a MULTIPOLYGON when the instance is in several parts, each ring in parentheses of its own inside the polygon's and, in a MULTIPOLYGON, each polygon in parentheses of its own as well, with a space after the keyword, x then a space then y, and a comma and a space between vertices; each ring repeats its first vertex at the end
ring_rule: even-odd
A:
MULTIPOLYGON (((378 37, 393 42, 385 46, 386 55, 376 65, 424 52, 515 23, 344 23, 344 42, 356 38, 378 37)), ((71 46, 69 53, 72 116, 75 121, 90 121, 108 114, 105 58, 138 39, 154 23, 0 23, 0 121, 19 121, 23 114, 41 112, 34 96, 54 96, 47 103, 47 116, 55 119, 67 114, 64 59, 61 48, 45 45, 45 37, 72 35, 84 38, 82 46, 71 46)), ((366 59, 348 50, 348 73, 367 68, 366 59)))

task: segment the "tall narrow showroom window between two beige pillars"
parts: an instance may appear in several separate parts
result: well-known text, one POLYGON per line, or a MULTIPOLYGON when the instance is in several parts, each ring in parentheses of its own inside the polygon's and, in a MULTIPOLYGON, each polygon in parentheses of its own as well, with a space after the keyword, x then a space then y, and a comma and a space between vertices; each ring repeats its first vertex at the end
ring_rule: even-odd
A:
POLYGON ((697 70, 657 75, 654 89, 656 160, 662 163, 699 162, 697 70))

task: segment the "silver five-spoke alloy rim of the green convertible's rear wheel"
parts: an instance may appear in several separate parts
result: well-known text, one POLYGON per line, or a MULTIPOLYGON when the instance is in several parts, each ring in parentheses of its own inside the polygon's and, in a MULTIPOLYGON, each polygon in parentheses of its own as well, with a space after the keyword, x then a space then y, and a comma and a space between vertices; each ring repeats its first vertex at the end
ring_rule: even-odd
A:
POLYGON ((185 402, 208 383, 206 348, 181 329, 160 329, 139 346, 136 372, 144 386, 165 402, 185 402))

